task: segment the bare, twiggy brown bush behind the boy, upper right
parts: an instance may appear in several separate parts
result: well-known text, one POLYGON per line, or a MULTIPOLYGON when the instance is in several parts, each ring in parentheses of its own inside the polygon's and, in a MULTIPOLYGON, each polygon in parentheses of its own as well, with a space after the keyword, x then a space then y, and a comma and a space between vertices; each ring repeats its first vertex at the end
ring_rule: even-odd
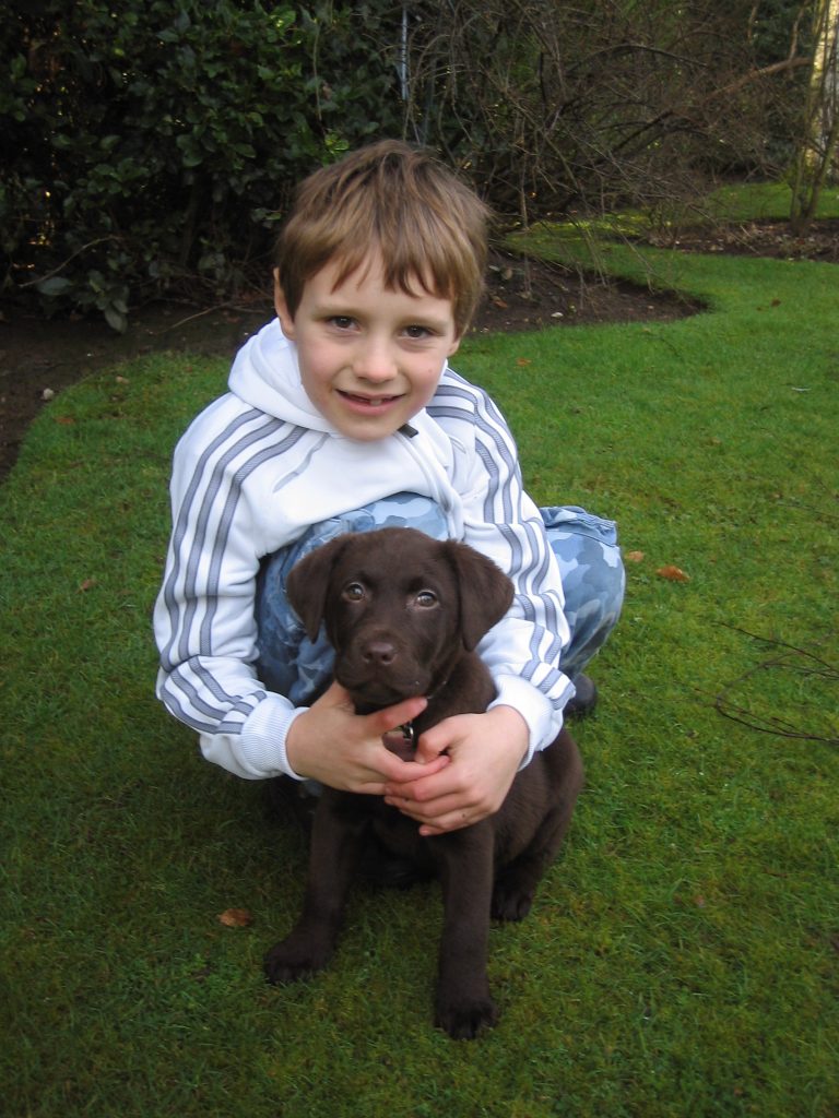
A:
POLYGON ((761 6, 746 0, 417 0, 403 12, 406 131, 525 224, 654 210, 709 173, 765 169, 769 133, 790 126, 779 78, 805 63, 795 11, 775 12, 785 29, 766 57, 761 6))

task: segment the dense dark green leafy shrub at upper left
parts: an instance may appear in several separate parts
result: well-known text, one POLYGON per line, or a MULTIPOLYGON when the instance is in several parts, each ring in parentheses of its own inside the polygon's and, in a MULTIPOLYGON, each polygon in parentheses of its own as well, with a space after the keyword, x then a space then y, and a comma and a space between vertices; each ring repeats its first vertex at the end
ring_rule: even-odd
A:
POLYGON ((301 176, 399 129, 366 4, 44 0, 0 28, 2 294, 235 296, 301 176))

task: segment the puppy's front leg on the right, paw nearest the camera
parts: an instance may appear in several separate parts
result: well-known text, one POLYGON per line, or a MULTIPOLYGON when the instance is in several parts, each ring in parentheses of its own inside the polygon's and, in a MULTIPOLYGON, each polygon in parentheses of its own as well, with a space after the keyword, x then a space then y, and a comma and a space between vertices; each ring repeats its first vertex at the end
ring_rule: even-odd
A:
POLYGON ((472 1040, 498 1020, 487 977, 492 897, 492 828, 484 821, 443 836, 436 850, 444 926, 434 1023, 455 1040, 472 1040))

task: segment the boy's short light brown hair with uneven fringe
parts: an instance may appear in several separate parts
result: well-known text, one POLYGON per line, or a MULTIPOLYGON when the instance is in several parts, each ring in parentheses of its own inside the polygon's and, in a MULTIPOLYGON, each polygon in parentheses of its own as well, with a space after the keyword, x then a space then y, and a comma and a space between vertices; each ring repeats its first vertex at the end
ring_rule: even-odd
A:
POLYGON ((341 284, 378 252, 385 285, 450 299, 458 334, 483 290, 489 209, 430 152, 381 140, 321 168, 298 188, 276 246, 292 316, 303 286, 330 260, 341 284))

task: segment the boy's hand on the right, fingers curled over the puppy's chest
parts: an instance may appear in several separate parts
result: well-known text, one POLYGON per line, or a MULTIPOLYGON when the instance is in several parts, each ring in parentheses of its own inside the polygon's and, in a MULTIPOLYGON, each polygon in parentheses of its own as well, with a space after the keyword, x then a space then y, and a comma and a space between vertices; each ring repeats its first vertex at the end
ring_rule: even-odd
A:
POLYGON ((423 776, 409 784, 389 781, 385 798, 422 824, 424 837, 471 826, 499 809, 528 741, 527 723, 512 707, 447 718, 420 739, 416 759, 423 762, 423 776), (451 765, 432 773, 430 766, 443 750, 451 765))

